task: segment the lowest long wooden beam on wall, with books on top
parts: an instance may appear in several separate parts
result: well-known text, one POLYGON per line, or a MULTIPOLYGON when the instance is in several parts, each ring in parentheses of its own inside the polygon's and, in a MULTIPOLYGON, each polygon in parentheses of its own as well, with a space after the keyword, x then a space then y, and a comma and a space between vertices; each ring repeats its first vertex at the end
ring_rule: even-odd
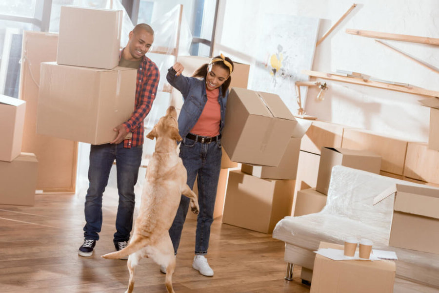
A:
POLYGON ((331 80, 331 81, 372 86, 372 87, 378 87, 378 88, 384 88, 384 89, 390 89, 390 90, 395 90, 395 91, 399 91, 399 92, 409 93, 409 94, 428 96, 428 97, 438 97, 439 98, 439 91, 429 90, 429 89, 425 89, 425 88, 417 87, 417 86, 412 86, 412 85, 405 86, 405 85, 396 85, 396 84, 386 84, 386 83, 381 83, 381 82, 376 82, 376 81, 371 81, 371 80, 363 80, 361 78, 344 77, 344 76, 339 76, 339 75, 335 75, 335 74, 331 74, 331 73, 312 71, 312 70, 302 70, 301 74, 306 74, 309 76, 318 77, 318 78, 331 80))

